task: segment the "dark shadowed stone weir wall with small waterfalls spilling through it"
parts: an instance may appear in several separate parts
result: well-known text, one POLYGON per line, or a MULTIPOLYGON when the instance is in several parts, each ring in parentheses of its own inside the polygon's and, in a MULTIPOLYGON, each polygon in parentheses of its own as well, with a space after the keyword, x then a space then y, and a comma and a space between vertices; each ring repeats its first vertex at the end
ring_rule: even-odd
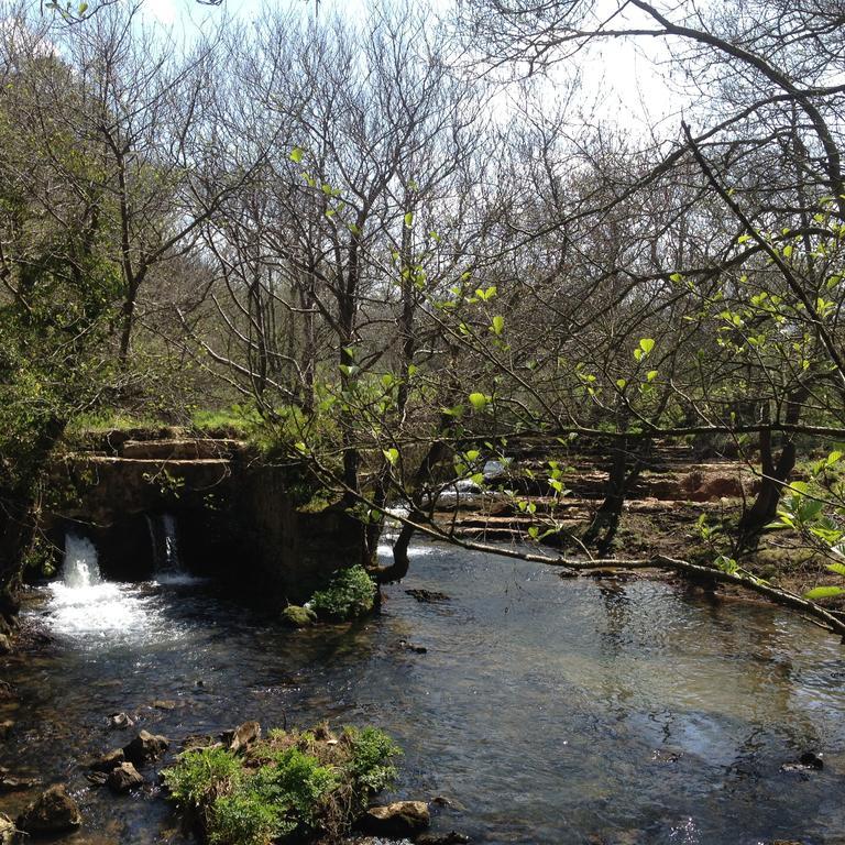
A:
POLYGON ((361 560, 363 529, 342 508, 298 505, 303 468, 265 461, 233 439, 112 432, 56 463, 48 535, 89 539, 105 577, 154 574, 151 518, 175 525, 179 559, 256 605, 301 602, 361 560))

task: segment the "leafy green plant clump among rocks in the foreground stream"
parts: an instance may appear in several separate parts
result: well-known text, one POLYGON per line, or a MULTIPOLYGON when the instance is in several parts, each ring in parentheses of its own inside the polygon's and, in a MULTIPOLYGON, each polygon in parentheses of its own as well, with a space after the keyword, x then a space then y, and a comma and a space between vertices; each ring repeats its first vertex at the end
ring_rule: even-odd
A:
POLYGON ((211 845, 338 842, 400 754, 381 731, 272 731, 244 755, 220 747, 180 755, 164 773, 171 795, 211 845))

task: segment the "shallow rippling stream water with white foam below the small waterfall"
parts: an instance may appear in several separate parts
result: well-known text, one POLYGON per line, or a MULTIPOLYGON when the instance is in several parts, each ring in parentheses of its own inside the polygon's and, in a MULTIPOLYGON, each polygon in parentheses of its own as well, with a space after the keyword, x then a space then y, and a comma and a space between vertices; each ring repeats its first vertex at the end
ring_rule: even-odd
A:
POLYGON ((94 549, 70 540, 64 582, 29 611, 55 643, 7 677, 21 705, 0 765, 70 784, 86 816, 72 842, 176 843, 152 786, 123 799, 87 786, 80 761, 133 735, 109 714, 175 739, 326 717, 395 735, 395 794, 446 797, 435 828, 476 843, 845 843, 835 638, 666 582, 561 580, 436 545, 411 555, 378 618, 289 632, 184 574, 103 582, 94 549), (781 770, 805 750, 824 753, 822 771, 781 770))

